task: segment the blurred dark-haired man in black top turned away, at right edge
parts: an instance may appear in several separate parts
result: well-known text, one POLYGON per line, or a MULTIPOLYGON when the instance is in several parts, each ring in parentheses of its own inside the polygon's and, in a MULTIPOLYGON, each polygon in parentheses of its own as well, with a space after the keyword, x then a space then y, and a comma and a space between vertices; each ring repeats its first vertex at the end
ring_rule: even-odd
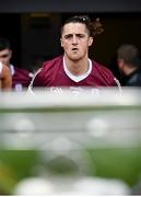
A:
POLYGON ((134 45, 124 44, 118 48, 117 65, 124 86, 141 86, 141 57, 134 45))

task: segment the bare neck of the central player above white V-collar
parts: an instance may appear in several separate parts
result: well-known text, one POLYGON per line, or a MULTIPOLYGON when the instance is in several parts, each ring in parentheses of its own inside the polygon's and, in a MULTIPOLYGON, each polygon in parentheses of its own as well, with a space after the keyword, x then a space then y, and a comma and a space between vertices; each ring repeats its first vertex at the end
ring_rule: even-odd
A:
POLYGON ((90 67, 87 58, 74 61, 74 60, 66 58, 64 56, 64 62, 66 62, 67 69, 74 76, 84 74, 89 70, 89 67, 90 67))

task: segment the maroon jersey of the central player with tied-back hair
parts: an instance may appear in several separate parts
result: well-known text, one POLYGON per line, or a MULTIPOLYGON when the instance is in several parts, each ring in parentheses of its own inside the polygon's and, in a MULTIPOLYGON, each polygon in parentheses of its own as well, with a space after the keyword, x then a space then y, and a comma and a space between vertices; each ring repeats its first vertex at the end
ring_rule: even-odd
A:
POLYGON ((74 81, 68 77, 63 67, 63 57, 59 56, 48 60, 43 65, 31 83, 31 88, 38 86, 116 86, 116 80, 110 70, 92 60, 92 70, 90 74, 74 81))

